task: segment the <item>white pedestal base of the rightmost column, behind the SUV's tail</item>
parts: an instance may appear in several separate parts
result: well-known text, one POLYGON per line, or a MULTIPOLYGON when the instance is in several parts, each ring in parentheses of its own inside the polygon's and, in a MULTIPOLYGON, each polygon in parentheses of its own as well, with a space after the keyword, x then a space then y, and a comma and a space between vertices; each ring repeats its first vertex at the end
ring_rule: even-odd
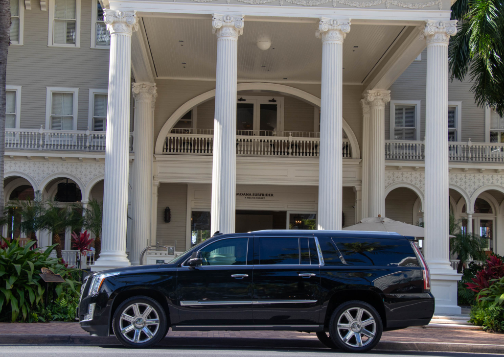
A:
MULTIPOLYGON (((430 268, 430 265, 429 265, 430 268)), ((457 304, 457 282, 462 278, 451 266, 430 268, 430 285, 435 299, 435 315, 460 315, 457 304)))

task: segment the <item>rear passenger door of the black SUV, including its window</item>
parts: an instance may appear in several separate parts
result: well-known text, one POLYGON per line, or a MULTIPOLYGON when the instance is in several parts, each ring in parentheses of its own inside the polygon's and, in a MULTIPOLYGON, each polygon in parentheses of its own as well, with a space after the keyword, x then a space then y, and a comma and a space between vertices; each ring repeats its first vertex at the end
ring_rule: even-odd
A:
POLYGON ((254 323, 319 325, 320 263, 314 237, 256 236, 254 323))

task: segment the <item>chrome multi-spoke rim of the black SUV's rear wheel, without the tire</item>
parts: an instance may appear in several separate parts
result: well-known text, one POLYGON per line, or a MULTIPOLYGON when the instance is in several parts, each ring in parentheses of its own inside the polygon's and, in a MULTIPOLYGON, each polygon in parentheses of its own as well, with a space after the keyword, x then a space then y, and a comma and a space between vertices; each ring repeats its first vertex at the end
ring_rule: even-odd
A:
POLYGON ((374 339, 376 322, 366 309, 350 308, 338 318, 337 331, 346 345, 363 347, 374 339))

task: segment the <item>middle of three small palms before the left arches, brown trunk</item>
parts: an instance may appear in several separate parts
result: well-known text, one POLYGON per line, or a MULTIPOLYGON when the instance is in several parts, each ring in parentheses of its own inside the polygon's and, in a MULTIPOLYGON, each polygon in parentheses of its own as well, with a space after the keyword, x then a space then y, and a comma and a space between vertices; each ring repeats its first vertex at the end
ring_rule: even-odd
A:
POLYGON ((55 247, 56 257, 61 258, 61 240, 59 234, 70 227, 74 230, 82 225, 82 214, 76 205, 59 207, 55 201, 46 201, 43 212, 39 218, 40 228, 52 232, 52 244, 55 247))

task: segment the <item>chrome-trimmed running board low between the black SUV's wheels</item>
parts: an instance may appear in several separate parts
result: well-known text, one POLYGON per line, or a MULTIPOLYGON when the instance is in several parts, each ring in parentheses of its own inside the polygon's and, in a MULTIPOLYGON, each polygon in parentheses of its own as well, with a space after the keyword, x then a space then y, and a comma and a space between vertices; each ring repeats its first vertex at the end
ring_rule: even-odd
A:
POLYGON ((172 325, 172 331, 324 331, 324 325, 172 325))

